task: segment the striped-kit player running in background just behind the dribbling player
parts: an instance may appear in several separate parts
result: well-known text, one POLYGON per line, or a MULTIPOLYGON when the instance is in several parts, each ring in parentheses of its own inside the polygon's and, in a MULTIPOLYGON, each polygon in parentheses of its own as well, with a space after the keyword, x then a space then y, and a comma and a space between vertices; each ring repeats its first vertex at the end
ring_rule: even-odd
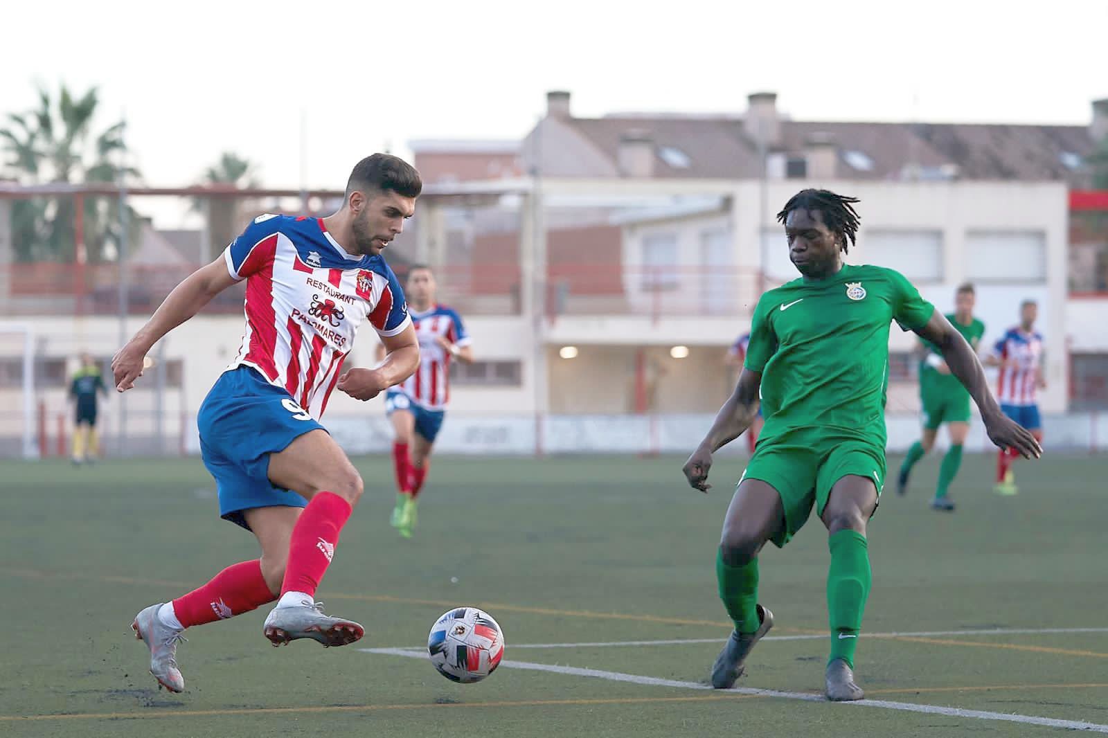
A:
POLYGON ((431 449, 450 400, 450 362, 458 359, 472 363, 473 349, 461 316, 435 301, 431 267, 412 266, 404 290, 419 338, 420 363, 403 385, 389 389, 384 409, 392 421, 392 461, 399 490, 391 523, 400 535, 410 539, 431 449))

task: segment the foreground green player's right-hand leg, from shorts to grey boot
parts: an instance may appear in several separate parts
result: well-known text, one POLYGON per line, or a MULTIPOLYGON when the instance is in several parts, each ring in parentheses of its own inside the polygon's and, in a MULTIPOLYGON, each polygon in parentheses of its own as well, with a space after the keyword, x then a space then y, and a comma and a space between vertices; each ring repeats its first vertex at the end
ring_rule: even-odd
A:
POLYGON ((854 652, 872 574, 865 526, 884 485, 884 457, 876 448, 839 443, 820 468, 817 505, 828 530, 828 619, 831 655, 825 674, 832 700, 861 699, 854 684, 854 652), (825 496, 824 496, 825 495, 825 496))

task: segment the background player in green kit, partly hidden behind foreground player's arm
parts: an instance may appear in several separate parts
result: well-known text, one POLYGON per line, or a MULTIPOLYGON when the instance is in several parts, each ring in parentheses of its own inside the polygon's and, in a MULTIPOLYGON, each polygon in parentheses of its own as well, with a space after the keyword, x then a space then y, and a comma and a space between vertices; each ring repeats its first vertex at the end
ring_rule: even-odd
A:
MULTIPOLYGON (((985 335, 985 324, 973 317, 974 303, 973 285, 962 285, 954 294, 954 312, 946 315, 945 318, 976 352, 981 338, 985 335)), ((935 488, 935 499, 931 501, 931 506, 953 512, 954 501, 951 500, 947 490, 958 473, 958 467, 962 465, 962 444, 970 434, 970 392, 958 378, 951 373, 938 347, 923 338, 920 342, 926 351, 926 357, 920 367, 923 434, 907 450, 896 478, 896 492, 904 494, 907 491, 907 476, 912 472, 912 467, 935 445, 938 427, 946 423, 946 430, 951 434, 951 448, 943 457, 943 465, 938 469, 938 485, 935 488)))

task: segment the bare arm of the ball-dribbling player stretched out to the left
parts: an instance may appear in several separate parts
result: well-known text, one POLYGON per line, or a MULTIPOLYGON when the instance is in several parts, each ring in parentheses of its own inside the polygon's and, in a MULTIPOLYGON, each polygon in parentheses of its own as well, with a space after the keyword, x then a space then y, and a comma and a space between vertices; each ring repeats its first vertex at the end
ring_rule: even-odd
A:
POLYGON ((115 389, 123 392, 134 387, 135 379, 142 377, 143 359, 151 347, 199 312, 213 297, 233 284, 235 279, 227 271, 227 263, 222 255, 185 277, 184 281, 173 288, 146 325, 112 358, 115 389))

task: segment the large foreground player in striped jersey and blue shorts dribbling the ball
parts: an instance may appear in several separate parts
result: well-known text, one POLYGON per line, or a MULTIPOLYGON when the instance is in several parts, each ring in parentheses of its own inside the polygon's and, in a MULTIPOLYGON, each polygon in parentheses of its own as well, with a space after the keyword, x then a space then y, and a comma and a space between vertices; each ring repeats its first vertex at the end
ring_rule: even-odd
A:
MULTIPOLYGON (((116 389, 133 388, 155 342, 246 280, 243 347, 204 399, 197 427, 219 514, 254 533, 261 556, 135 616, 131 627, 150 648, 151 674, 171 691, 185 686, 176 662, 185 628, 278 597, 263 626, 275 646, 296 638, 342 646, 365 633, 314 602, 362 491, 361 476, 319 417, 332 390, 368 400, 419 363, 403 290, 381 253, 414 213, 421 188, 409 164, 375 154, 355 166, 334 215, 258 216, 215 262, 177 285, 112 360, 116 389), (343 370, 362 320, 388 356, 375 369, 343 370)), ((141 553, 154 562, 187 554, 141 553)))

